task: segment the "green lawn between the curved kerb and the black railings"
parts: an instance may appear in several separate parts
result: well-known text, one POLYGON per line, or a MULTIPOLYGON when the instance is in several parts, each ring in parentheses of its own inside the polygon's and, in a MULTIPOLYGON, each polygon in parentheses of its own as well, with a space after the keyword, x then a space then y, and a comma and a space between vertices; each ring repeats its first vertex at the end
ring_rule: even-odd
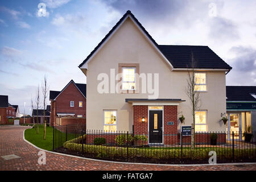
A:
POLYGON ((53 129, 51 126, 46 127, 46 140, 43 139, 44 135, 44 127, 43 125, 39 125, 39 133, 36 134, 35 129, 27 129, 25 130, 24 136, 28 142, 33 143, 35 146, 39 148, 43 148, 44 150, 52 151, 52 139, 53 139, 53 129))

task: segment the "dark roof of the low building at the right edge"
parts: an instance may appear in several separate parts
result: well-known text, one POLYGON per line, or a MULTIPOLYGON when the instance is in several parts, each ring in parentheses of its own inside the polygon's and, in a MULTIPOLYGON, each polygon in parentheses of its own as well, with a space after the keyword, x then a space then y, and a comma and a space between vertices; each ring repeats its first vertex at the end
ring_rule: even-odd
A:
POLYGON ((256 101, 256 86, 226 86, 226 101, 256 101))

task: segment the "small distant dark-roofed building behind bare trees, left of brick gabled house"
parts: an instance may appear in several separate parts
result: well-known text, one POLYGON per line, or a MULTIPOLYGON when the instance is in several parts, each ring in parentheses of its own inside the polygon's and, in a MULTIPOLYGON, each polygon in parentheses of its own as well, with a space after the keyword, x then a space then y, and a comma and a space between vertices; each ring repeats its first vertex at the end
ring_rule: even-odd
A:
POLYGON ((49 123, 50 121, 50 112, 51 112, 51 106, 47 105, 46 109, 33 109, 32 110, 32 118, 33 123, 44 123, 43 117, 46 118, 46 123, 49 123))

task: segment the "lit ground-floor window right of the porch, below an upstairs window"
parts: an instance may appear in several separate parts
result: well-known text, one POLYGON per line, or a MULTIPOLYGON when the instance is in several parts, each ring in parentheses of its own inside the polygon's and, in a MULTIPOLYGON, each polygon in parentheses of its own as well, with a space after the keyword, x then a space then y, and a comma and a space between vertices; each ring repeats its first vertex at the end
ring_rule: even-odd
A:
POLYGON ((195 111, 195 131, 207 131, 207 111, 195 111))

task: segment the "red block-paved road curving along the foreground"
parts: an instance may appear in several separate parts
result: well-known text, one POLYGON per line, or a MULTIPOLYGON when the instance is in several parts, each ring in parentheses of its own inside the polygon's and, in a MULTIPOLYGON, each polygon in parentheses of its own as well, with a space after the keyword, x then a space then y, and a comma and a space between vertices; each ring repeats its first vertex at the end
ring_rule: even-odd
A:
POLYGON ((38 164, 39 150, 23 140, 26 126, 0 126, 0 170, 256 170, 256 164, 220 166, 158 166, 98 162, 46 152, 46 165, 38 164), (18 155, 5 160, 4 155, 18 155))

